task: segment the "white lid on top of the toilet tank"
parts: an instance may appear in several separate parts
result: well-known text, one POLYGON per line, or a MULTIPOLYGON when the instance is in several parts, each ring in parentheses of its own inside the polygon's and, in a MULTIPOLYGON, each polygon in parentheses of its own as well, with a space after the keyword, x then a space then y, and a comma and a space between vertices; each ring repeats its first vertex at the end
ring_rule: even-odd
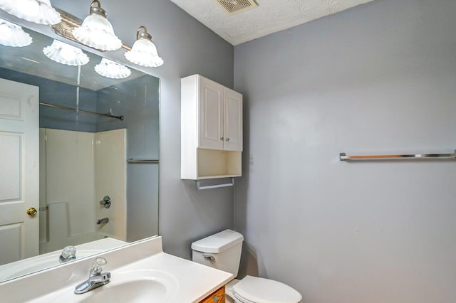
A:
POLYGON ((197 240, 192 243, 192 250, 199 252, 218 253, 241 243, 244 237, 234 230, 223 230, 220 233, 209 235, 209 237, 197 240))

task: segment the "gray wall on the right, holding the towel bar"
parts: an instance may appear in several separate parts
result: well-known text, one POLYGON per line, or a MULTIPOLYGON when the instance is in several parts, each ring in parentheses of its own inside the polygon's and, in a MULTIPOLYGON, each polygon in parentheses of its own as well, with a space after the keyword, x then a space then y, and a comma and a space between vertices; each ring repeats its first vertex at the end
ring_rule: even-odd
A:
POLYGON ((455 16, 376 0, 234 48, 243 273, 306 303, 456 302, 455 161, 338 161, 455 149, 455 16))

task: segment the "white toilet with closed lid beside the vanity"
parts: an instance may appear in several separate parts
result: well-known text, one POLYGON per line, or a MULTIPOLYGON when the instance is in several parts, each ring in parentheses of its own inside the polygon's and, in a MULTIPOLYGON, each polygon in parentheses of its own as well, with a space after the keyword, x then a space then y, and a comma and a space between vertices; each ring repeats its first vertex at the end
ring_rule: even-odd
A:
MULTIPOLYGON (((229 229, 209 235, 192 243, 192 260, 231 272, 236 277, 243 241, 240 233, 229 229)), ((252 276, 234 279, 225 287, 225 292, 232 299, 227 298, 227 302, 235 303, 299 303, 302 299, 299 292, 284 283, 252 276)))

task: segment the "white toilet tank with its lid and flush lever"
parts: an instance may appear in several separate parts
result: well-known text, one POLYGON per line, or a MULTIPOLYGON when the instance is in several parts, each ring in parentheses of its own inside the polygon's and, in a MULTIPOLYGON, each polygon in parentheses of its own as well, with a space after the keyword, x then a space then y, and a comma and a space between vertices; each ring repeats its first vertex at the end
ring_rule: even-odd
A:
POLYGON ((194 262, 237 276, 244 237, 234 230, 223 230, 192 243, 194 262))

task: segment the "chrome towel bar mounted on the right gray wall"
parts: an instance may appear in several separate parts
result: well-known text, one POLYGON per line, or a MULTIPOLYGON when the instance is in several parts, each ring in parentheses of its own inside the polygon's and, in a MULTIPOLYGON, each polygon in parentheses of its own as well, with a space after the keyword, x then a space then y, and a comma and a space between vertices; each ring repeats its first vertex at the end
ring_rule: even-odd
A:
POLYGON ((339 154, 341 161, 374 161, 374 160, 456 160, 456 151, 453 154, 375 154, 347 156, 339 154))

